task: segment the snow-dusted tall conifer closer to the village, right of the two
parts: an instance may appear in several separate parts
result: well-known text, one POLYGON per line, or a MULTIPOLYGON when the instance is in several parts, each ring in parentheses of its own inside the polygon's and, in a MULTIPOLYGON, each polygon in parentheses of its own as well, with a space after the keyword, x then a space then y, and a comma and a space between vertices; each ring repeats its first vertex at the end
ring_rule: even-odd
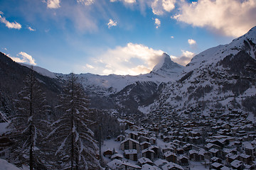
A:
POLYGON ((57 120, 53 131, 48 135, 52 143, 58 144, 55 155, 59 158, 61 169, 100 169, 97 160, 97 142, 87 125, 89 100, 75 74, 70 74, 60 95, 60 108, 63 116, 57 120))

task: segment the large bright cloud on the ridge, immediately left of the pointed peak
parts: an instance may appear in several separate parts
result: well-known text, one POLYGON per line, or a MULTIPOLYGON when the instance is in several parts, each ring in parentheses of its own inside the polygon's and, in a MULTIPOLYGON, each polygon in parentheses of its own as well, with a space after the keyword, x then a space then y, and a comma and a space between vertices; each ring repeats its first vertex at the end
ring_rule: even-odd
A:
POLYGON ((162 54, 161 50, 130 42, 124 47, 107 50, 92 65, 103 74, 145 74, 161 60, 162 54))

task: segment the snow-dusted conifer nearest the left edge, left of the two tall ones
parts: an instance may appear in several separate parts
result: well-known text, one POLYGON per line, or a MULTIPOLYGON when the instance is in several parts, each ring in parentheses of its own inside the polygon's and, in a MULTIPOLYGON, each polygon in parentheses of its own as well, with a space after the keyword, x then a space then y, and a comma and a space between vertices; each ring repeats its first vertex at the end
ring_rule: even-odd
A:
POLYGON ((46 95, 41 90, 38 80, 31 74, 26 77, 24 87, 18 94, 16 114, 11 116, 10 137, 11 162, 28 164, 30 169, 45 169, 43 166, 43 137, 46 137, 46 95))

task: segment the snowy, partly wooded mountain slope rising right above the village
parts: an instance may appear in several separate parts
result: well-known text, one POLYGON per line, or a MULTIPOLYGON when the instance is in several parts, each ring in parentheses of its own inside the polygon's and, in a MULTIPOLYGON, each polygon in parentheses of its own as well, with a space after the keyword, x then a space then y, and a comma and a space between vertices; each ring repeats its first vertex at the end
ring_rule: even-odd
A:
MULTIPOLYGON (((144 113, 160 108, 182 114, 201 108, 205 115, 216 109, 255 112, 256 27, 228 45, 210 48, 193 57, 178 81, 169 82, 144 113)), ((255 112, 256 113, 256 112, 255 112)))

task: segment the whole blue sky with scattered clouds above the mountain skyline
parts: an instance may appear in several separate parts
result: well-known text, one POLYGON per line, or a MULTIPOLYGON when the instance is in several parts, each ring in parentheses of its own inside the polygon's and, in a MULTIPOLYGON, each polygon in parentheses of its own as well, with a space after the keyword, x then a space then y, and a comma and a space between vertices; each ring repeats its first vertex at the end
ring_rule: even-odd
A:
POLYGON ((0 1, 0 51, 60 73, 143 74, 256 25, 255 0, 0 1))

